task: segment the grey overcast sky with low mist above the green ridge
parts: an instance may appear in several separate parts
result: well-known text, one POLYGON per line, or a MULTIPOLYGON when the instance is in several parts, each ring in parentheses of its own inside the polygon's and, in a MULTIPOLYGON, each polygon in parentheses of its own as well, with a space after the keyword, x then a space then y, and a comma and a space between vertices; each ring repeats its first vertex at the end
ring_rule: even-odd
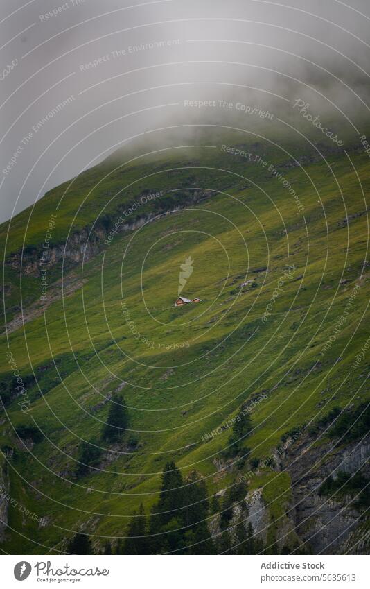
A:
POLYGON ((253 124, 186 101, 368 116, 369 0, 2 0, 0 27, 0 221, 148 131, 253 124))

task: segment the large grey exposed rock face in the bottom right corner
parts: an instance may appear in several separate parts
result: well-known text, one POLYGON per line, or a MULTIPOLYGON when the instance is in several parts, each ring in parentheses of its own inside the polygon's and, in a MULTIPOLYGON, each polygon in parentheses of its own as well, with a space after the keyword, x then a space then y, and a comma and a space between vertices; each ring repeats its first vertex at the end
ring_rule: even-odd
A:
POLYGON ((362 473, 369 475, 369 437, 346 448, 335 447, 332 441, 315 446, 314 442, 304 436, 283 459, 283 467, 292 477, 293 502, 288 515, 313 554, 363 554, 364 519, 355 498, 319 495, 318 490, 326 477, 335 479, 339 471, 353 474, 362 468, 362 473))

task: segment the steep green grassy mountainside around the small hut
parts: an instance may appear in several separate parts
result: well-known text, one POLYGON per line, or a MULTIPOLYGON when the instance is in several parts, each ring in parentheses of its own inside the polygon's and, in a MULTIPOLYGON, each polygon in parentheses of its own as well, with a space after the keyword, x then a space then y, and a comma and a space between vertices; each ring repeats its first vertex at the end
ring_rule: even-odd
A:
MULTIPOLYGON (((333 407, 353 411, 368 398, 369 357, 353 361, 368 337, 369 160, 318 146, 323 160, 304 144, 294 160, 289 147, 233 133, 131 164, 117 155, 1 226, 3 487, 45 518, 10 505, 4 551, 20 541, 24 554, 63 551, 81 526, 99 549, 125 535, 141 502, 150 510, 168 460, 184 477, 200 473, 212 496, 274 455, 286 432, 303 434, 333 407), (161 196, 144 203, 148 194, 161 196), (40 299, 39 268, 21 268, 20 252, 27 264, 40 259, 52 214, 49 248, 72 254, 64 267, 63 255, 49 257, 40 299), (120 216, 143 224, 112 234, 120 216), (73 236, 82 230, 81 246, 73 236), (189 256, 182 295, 202 302, 175 308, 189 256), (17 394, 15 370, 26 393, 17 394), (130 425, 109 446, 100 432, 117 390, 130 425), (245 452, 227 459, 222 424, 251 402, 245 452), (21 426, 31 433, 19 436, 21 426), (81 440, 99 441, 103 454, 77 478, 81 440)), ((255 470, 249 489, 262 489, 274 545, 292 481, 255 470)), ((297 542, 294 531, 287 538, 297 542)))

